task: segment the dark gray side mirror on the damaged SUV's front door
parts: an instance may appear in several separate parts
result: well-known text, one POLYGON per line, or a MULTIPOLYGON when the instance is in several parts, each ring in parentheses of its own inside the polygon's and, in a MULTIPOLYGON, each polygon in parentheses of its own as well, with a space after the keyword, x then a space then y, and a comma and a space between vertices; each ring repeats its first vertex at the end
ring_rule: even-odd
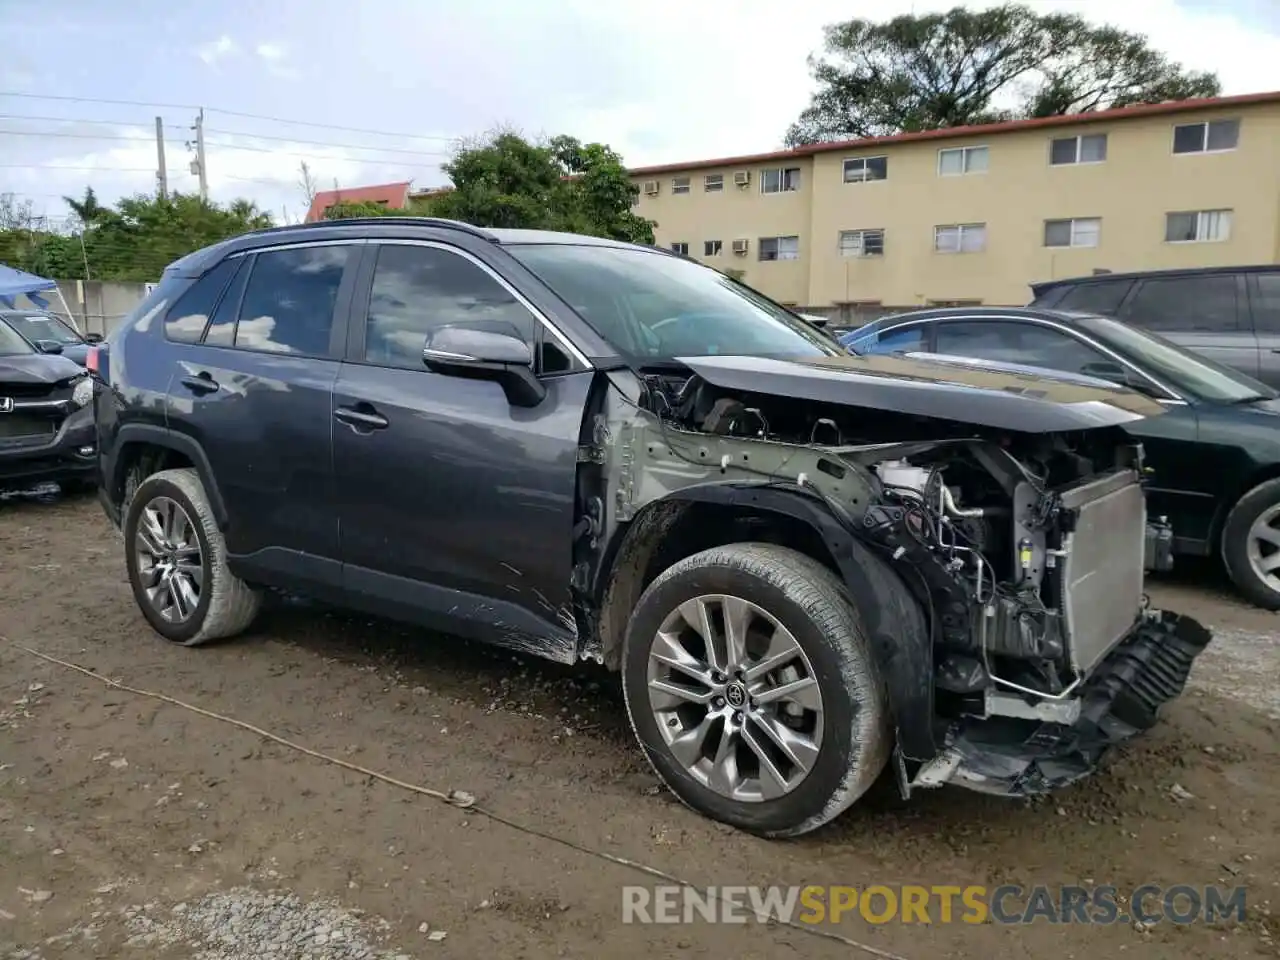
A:
POLYGON ((534 376, 534 355, 511 324, 445 324, 426 337, 422 362, 445 376, 494 380, 513 407, 536 407, 547 388, 534 376))

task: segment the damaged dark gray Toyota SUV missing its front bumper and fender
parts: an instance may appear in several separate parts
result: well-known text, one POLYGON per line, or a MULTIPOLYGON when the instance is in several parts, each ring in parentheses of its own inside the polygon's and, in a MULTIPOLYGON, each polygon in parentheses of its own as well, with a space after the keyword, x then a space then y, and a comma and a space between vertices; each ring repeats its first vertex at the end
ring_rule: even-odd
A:
POLYGON ((888 771, 1044 792, 1210 641, 1107 383, 850 356, 696 262, 378 218, 173 264, 90 358, 100 497, 168 640, 311 594, 621 672, 690 806, 765 836, 888 771))

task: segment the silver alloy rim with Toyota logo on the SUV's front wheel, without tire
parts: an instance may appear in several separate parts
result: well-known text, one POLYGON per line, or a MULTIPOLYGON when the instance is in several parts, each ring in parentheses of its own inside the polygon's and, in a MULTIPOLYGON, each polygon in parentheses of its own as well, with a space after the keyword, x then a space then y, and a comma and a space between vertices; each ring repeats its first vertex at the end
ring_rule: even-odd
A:
POLYGON ((790 794, 822 746, 822 691, 782 623, 708 594, 667 614, 649 649, 649 707, 672 755, 731 800, 790 794))

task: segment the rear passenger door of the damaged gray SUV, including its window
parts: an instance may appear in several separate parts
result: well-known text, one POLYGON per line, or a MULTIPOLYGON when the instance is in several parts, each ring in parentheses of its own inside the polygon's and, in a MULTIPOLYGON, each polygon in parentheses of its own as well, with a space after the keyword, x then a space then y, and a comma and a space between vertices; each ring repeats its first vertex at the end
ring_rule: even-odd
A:
POLYGON ((211 316, 174 319, 196 342, 175 352, 169 426, 205 452, 227 550, 265 582, 340 582, 332 399, 360 250, 246 253, 211 316))

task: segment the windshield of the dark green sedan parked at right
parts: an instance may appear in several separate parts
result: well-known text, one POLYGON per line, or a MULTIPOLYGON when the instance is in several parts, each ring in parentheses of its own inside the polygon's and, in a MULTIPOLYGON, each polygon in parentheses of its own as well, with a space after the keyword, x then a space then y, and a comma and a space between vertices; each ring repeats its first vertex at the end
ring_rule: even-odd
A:
POLYGON ((1079 324, 1152 376, 1194 399, 1239 403, 1276 396, 1275 390, 1252 376, 1192 353, 1147 330, 1106 316, 1082 316, 1079 324))

